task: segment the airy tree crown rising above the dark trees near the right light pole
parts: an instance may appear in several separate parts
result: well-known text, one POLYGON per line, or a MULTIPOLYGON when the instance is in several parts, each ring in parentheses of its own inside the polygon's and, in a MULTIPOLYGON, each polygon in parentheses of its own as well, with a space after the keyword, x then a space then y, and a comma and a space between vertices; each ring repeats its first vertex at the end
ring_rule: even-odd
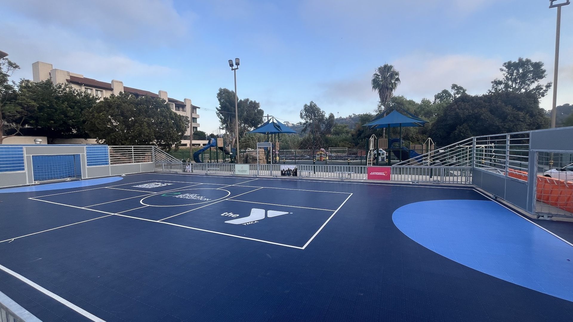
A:
POLYGON ((517 61, 504 62, 503 68, 500 68, 503 78, 496 78, 492 81, 492 89, 489 92, 514 92, 527 93, 531 92, 537 99, 547 95, 551 88, 551 83, 545 85, 539 84, 547 74, 543 68, 543 62, 531 61, 529 58, 521 58, 517 61))

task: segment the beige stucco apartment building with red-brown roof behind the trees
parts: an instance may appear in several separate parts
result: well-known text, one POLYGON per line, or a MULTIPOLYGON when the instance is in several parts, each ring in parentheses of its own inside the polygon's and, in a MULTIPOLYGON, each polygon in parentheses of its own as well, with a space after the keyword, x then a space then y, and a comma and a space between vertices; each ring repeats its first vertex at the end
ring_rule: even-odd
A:
MULTIPOLYGON (((166 91, 159 91, 156 94, 150 91, 144 91, 143 89, 124 86, 123 82, 119 80, 112 80, 111 83, 106 83, 104 81, 84 77, 81 74, 68 72, 67 70, 54 69, 52 64, 41 61, 37 61, 32 64, 32 74, 33 81, 45 81, 49 80, 51 77, 52 83, 54 84, 68 84, 73 88, 80 89, 81 91, 85 91, 102 98, 108 97, 112 94, 117 95, 120 92, 130 93, 136 97, 160 97, 169 104, 172 111, 179 115, 189 117, 191 123, 189 124, 189 128, 187 128, 186 135, 192 136, 193 132, 197 131, 199 128, 199 123, 197 123, 199 119, 197 110, 199 107, 191 104, 190 99, 184 99, 183 101, 172 99, 167 96, 166 91)), ((183 140, 181 143, 183 146, 189 146, 189 141, 187 140, 183 140)))

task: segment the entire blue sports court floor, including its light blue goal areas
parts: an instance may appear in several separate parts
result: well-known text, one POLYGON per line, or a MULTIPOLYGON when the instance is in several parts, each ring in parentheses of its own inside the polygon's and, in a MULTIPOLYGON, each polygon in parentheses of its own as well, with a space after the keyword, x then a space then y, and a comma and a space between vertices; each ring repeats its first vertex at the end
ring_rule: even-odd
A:
POLYGON ((0 291, 43 321, 573 316, 573 246, 469 187, 90 181, 0 190, 0 291))

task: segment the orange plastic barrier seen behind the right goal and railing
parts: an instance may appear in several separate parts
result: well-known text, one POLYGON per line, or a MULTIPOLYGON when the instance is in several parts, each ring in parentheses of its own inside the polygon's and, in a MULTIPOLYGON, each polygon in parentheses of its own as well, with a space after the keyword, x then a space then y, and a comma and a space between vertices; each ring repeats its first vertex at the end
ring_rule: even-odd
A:
MULTIPOLYGON (((527 181, 527 172, 509 169, 508 176, 527 181)), ((536 199, 573 213, 573 182, 537 175, 536 199)))

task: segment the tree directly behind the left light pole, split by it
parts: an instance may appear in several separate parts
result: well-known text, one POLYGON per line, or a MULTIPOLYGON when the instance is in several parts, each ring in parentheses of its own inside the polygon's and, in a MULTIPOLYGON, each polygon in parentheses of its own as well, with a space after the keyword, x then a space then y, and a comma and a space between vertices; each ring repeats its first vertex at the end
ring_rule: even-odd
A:
MULTIPOLYGON (((229 135, 227 138, 233 142, 236 138, 235 129, 235 92, 226 88, 219 88, 217 92, 217 116, 219 122, 229 135)), ((262 116, 264 111, 261 104, 250 99, 242 99, 237 103, 237 112, 239 114, 239 137, 246 132, 258 127, 263 122, 262 116)))

